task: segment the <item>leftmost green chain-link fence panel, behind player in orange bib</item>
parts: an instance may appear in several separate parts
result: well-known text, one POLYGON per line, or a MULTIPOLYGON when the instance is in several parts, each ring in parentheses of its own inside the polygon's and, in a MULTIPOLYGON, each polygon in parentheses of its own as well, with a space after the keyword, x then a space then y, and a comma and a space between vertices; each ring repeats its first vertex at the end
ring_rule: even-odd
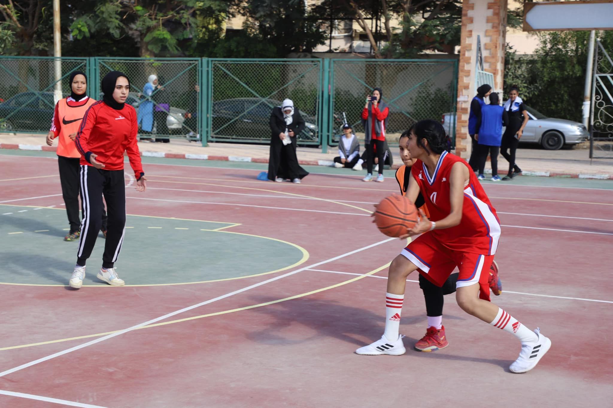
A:
POLYGON ((75 70, 88 73, 88 59, 0 57, 0 132, 47 133, 55 84, 61 83, 60 97, 70 95, 68 81, 75 70))

